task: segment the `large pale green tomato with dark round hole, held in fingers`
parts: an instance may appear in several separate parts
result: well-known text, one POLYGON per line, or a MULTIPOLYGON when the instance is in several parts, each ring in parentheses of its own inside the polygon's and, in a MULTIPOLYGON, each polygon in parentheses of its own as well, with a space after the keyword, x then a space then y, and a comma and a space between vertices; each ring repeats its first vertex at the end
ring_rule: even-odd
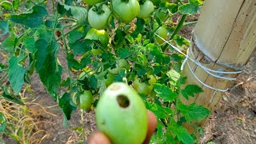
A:
POLYGON ((146 138, 146 106, 125 83, 114 82, 103 92, 95 115, 98 130, 113 144, 142 144, 146 138))

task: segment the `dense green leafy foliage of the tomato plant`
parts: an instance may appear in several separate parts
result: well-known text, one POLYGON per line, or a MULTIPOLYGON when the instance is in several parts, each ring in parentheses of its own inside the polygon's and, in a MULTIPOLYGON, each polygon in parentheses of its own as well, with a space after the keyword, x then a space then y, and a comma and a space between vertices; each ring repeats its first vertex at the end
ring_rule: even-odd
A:
MULTIPOLYGON (((180 70, 184 57, 165 42, 160 42, 155 34, 168 34, 166 41, 184 50, 190 42, 178 35, 178 31, 187 14, 197 13, 202 0, 190 0, 189 3, 182 0, 153 1, 154 12, 148 18, 134 18, 136 16, 128 10, 122 10, 120 14, 116 5, 122 2, 117 0, 100 1, 92 10, 97 16, 104 14, 103 5, 109 6, 111 14, 104 21, 107 27, 96 30, 93 36, 87 38, 86 34, 92 28, 87 13, 92 6, 73 0, 22 2, 0 2, 0 35, 6 37, 0 50, 10 55, 7 63, 0 63, 0 74, 6 74, 11 86, 7 89, 7 83, 2 85, 3 98, 22 105, 16 95, 25 82, 30 83, 30 76, 36 72, 69 120, 81 104, 79 94, 84 90, 90 90, 94 96, 93 106, 97 106, 98 98, 111 82, 127 82, 133 86, 134 78, 139 78, 139 82, 150 87, 149 94, 140 95, 147 109, 158 118, 157 133, 151 142, 196 141, 194 134, 189 134, 182 124, 200 121, 210 111, 195 103, 186 106, 180 98, 194 97, 194 94, 202 93, 202 89, 195 85, 184 86, 186 77, 180 70), (48 3, 52 5, 52 10, 46 9, 48 3), (117 12, 113 10, 113 5, 117 12), (132 21, 123 19, 125 16, 132 18, 132 21), (181 18, 176 24, 172 17, 178 16, 181 18), (101 35, 103 33, 105 36, 101 35), (110 39, 106 38, 106 34, 110 39), (67 70, 58 60, 60 50, 66 52, 67 70), (120 60, 126 61, 127 66, 120 60), (112 74, 113 70, 116 72, 112 74), (63 79, 65 72, 69 77, 63 79), (149 75, 153 75, 156 82, 150 81, 149 75), (61 89, 66 92, 62 93, 61 89)), ((136 2, 133 5, 137 10, 136 2)), ((140 0, 139 4, 144 2, 140 0)), ((148 13, 146 11, 144 15, 148 13)), ((3 122, 1 114, 0 122, 3 122)), ((2 123, 0 130, 5 125, 2 123)))

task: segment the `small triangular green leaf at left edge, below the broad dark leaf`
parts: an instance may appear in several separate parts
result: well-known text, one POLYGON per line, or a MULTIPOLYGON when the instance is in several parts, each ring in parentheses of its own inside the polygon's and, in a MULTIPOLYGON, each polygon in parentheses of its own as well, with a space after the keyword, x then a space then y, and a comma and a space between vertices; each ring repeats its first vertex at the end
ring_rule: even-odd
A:
POLYGON ((2 46, 4 50, 6 50, 9 53, 14 53, 16 41, 17 41, 16 36, 14 34, 10 34, 10 36, 2 42, 2 46))

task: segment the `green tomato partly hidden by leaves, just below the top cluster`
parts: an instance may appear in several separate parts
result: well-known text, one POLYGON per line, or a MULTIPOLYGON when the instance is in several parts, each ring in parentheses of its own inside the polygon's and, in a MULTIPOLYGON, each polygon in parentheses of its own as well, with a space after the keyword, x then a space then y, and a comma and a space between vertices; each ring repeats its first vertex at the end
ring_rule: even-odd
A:
POLYGON ((100 42, 98 43, 100 46, 95 46, 92 49, 92 53, 95 55, 98 55, 98 54, 102 54, 101 49, 106 48, 106 46, 108 45, 110 36, 106 32, 106 30, 96 30, 94 28, 91 28, 86 34, 86 39, 91 39, 91 40, 100 42))

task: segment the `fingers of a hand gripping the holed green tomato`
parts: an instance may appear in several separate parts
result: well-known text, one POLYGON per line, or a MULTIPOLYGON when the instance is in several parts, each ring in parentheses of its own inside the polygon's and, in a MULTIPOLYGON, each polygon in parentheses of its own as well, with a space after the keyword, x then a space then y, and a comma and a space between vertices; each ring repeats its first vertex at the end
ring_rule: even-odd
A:
MULTIPOLYGON (((157 126, 157 118, 150 110, 148 110, 147 117, 148 117, 148 122, 147 122, 148 128, 147 128, 146 138, 143 144, 147 144, 150 142, 150 138, 157 126)), ((111 143, 110 139, 107 138, 105 134, 103 134, 101 131, 98 131, 98 130, 94 131, 94 133, 90 135, 90 138, 88 141, 88 144, 110 144, 110 143, 111 143)))

